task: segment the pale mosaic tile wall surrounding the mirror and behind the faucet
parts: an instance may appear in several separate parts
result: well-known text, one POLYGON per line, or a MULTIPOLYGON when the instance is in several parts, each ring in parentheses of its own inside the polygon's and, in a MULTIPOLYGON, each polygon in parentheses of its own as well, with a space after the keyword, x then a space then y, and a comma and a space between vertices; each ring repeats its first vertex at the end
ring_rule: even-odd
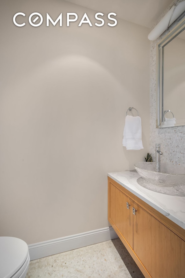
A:
MULTIPOLYGON (((172 4, 173 3, 174 1, 172 4)), ((160 16, 156 24, 169 9, 170 6, 160 16)), ((185 126, 156 128, 156 44, 166 36, 175 25, 177 25, 177 22, 174 22, 157 40, 151 41, 150 43, 150 153, 154 158, 155 145, 159 143, 161 144, 161 151, 163 152, 163 155, 161 155, 161 162, 185 166, 185 126)), ((184 109, 184 104, 182 108, 184 109)))

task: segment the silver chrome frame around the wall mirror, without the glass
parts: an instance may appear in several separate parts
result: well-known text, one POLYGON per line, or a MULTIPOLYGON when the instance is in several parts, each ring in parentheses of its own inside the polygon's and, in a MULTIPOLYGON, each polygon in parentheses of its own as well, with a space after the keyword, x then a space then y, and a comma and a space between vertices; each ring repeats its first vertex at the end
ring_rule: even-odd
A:
MULTIPOLYGON (((156 45, 157 51, 157 101, 156 101, 156 127, 171 127, 163 125, 164 122, 164 47, 185 29, 185 17, 156 45)), ((185 125, 185 119, 177 119, 174 126, 185 125)))

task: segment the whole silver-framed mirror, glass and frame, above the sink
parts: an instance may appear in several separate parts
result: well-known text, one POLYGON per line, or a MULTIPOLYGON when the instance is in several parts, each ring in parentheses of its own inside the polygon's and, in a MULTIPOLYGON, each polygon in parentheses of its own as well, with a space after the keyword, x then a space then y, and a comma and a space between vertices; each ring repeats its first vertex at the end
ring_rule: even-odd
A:
POLYGON ((157 44, 156 127, 185 125, 185 18, 157 44))

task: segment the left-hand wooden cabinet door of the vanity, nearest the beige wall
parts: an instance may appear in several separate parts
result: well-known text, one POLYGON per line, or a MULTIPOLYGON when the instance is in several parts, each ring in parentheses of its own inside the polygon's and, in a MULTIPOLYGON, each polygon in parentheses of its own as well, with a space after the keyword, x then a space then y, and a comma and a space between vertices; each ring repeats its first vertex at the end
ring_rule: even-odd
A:
POLYGON ((133 249, 133 201, 110 183, 110 219, 133 249))

